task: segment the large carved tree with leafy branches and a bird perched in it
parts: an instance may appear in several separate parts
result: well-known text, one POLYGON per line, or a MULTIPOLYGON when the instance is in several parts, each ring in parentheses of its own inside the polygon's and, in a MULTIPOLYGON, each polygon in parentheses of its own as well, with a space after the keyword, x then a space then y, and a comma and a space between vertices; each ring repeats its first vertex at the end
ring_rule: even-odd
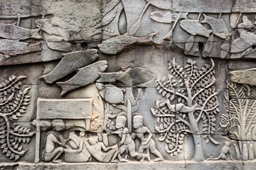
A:
POLYGON ((213 60, 210 63, 199 71, 195 61, 189 59, 182 68, 174 58, 169 63, 168 77, 156 81, 156 89, 164 99, 156 100, 151 113, 158 123, 155 129, 161 134, 159 141, 166 142, 165 149, 171 157, 181 152, 185 135, 191 134, 195 145, 193 159, 203 161, 201 123, 206 142, 219 144, 210 137, 215 132, 215 114, 219 112, 213 60))

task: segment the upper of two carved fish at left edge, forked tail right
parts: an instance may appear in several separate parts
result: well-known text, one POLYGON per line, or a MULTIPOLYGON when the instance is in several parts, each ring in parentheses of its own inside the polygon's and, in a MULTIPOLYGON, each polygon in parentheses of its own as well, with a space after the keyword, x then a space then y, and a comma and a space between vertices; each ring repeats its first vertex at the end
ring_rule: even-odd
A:
POLYGON ((0 23, 0 37, 11 40, 27 40, 30 38, 42 39, 39 34, 41 29, 26 29, 14 24, 0 23))

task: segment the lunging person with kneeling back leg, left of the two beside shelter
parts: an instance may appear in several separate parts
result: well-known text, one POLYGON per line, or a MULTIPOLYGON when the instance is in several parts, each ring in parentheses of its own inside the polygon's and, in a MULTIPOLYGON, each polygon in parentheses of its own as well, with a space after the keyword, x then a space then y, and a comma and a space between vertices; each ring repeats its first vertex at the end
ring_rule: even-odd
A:
POLYGON ((118 153, 118 159, 119 162, 127 162, 127 157, 126 159, 123 159, 121 155, 124 152, 129 152, 131 157, 140 159, 141 161, 144 160, 144 158, 147 158, 146 154, 138 153, 135 152, 135 142, 132 140, 132 137, 129 135, 129 130, 128 128, 125 128, 125 123, 127 121, 127 118, 124 115, 119 115, 117 116, 116 119, 116 128, 117 130, 112 132, 113 134, 117 134, 120 138, 121 141, 118 143, 119 145, 119 153, 118 153))

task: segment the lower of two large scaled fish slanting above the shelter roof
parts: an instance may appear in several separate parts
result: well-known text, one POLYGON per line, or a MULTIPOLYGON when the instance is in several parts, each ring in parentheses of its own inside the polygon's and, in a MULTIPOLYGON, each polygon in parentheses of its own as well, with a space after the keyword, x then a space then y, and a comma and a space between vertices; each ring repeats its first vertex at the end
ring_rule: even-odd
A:
POLYGON ((107 69, 107 61, 102 60, 95 62, 86 67, 78 69, 78 73, 74 77, 65 82, 58 82, 57 85, 63 89, 61 96, 68 93, 68 91, 73 91, 80 88, 81 86, 86 86, 92 84, 100 77, 100 72, 105 72, 107 69))

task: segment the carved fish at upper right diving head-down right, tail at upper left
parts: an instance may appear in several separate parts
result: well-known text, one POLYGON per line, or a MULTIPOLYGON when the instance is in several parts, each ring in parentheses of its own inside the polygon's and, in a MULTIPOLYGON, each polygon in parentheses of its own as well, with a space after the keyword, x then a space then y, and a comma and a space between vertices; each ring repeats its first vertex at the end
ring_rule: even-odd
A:
POLYGON ((219 38, 227 38, 230 33, 228 33, 228 28, 225 26, 223 19, 215 19, 210 16, 203 14, 204 20, 201 23, 208 23, 210 28, 213 29, 213 34, 219 38))

